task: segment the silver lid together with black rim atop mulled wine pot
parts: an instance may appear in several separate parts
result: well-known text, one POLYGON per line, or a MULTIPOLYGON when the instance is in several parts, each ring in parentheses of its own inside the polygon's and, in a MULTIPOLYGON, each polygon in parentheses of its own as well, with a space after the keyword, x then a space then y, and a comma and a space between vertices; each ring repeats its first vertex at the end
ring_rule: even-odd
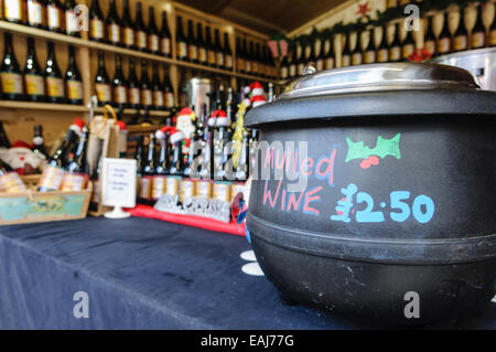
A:
POLYGON ((273 103, 250 109, 245 126, 433 115, 496 117, 496 92, 479 89, 467 71, 448 65, 393 63, 327 70, 289 82, 273 103))

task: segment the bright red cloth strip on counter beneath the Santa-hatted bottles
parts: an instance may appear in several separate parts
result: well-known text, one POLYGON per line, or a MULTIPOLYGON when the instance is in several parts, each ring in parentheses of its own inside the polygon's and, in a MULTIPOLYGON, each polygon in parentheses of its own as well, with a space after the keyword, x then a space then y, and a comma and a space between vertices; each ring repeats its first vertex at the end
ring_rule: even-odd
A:
POLYGON ((208 217, 161 212, 152 206, 142 204, 138 204, 136 207, 128 209, 127 211, 130 212, 132 216, 158 218, 170 223, 223 232, 231 235, 246 236, 245 223, 238 225, 236 222, 231 221, 226 224, 208 217))

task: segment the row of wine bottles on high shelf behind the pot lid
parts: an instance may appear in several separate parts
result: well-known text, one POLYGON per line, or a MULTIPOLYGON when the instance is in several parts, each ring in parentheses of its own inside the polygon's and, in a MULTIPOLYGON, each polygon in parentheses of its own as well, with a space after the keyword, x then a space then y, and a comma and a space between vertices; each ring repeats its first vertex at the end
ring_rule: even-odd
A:
MULTIPOLYGON (((427 29, 423 39, 424 49, 432 56, 445 55, 453 52, 461 52, 470 49, 482 49, 486 46, 496 46, 496 17, 488 30, 483 21, 482 6, 477 7, 477 17, 471 32, 465 24, 465 11, 461 11, 457 30, 451 33, 449 26, 449 12, 444 13, 443 26, 436 36, 433 30, 433 17, 427 18, 427 29)), ((402 22, 401 22, 402 23, 402 22)), ((400 35, 400 24, 395 24, 395 34, 392 41, 387 38, 387 29, 382 28, 381 41, 377 45, 375 41, 375 28, 370 28, 369 41, 366 46, 363 45, 363 34, 357 33, 357 40, 354 47, 351 44, 351 34, 343 36, 342 67, 349 65, 387 63, 407 61, 411 53, 417 49, 413 38, 413 31, 407 31, 403 40, 400 35)), ((281 64, 281 78, 290 78, 301 75, 303 67, 308 62, 314 62, 317 71, 335 68, 335 49, 334 38, 317 43, 309 43, 303 47, 293 47, 292 53, 284 57, 281 64), (326 45, 327 44, 327 45, 326 45), (327 46, 327 50, 325 50, 327 46), (319 50, 319 52, 317 52, 319 50)))

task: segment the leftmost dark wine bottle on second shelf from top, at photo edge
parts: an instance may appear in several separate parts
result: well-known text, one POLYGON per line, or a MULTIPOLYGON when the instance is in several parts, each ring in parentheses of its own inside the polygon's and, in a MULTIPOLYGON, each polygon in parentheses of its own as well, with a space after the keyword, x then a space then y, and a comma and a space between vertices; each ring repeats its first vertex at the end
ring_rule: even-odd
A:
POLYGON ((22 89, 22 72, 12 47, 12 34, 4 34, 4 50, 0 75, 2 81, 2 99, 22 100, 24 99, 22 89))

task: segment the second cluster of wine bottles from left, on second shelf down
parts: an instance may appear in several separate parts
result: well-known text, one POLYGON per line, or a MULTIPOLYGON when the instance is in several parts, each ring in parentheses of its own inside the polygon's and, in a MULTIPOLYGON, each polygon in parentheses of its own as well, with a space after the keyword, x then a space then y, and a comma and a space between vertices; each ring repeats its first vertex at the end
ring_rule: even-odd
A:
POLYGON ((125 76, 122 58, 116 55, 116 70, 110 79, 105 65, 105 55, 98 53, 98 71, 95 76, 95 92, 99 105, 110 104, 117 107, 134 109, 148 108, 164 110, 174 107, 174 92, 166 71, 161 79, 159 64, 152 64, 152 78, 148 62, 141 61, 141 77, 136 74, 134 61, 129 58, 129 74, 125 76))

